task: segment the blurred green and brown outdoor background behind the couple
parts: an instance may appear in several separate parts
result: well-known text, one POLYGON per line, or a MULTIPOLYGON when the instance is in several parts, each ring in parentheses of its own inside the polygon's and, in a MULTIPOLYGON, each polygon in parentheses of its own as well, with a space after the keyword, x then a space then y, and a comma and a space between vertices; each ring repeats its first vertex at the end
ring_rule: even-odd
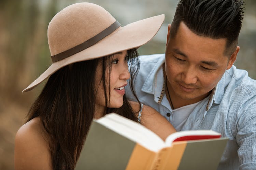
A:
MULTIPOLYGON (((14 138, 42 85, 22 90, 51 65, 47 26, 62 8, 76 2, 96 3, 122 26, 165 14, 165 22, 139 54, 164 53, 167 24, 177 0, 0 0, 0 170, 14 169, 14 138)), ((235 65, 256 79, 256 1, 245 0, 245 18, 239 37, 241 50, 235 65)))

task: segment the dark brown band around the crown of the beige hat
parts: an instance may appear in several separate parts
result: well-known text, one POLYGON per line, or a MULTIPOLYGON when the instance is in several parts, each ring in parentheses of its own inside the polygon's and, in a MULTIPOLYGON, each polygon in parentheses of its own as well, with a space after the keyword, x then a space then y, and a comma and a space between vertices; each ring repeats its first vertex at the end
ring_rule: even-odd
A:
POLYGON ((94 37, 88 39, 87 41, 85 41, 82 44, 79 44, 71 49, 68 49, 66 51, 63 51, 59 54, 53 55, 51 56, 52 61, 53 62, 57 62, 59 60, 62 60, 64 58, 67 58, 71 55, 74 55, 92 45, 94 45, 95 43, 97 43, 98 41, 102 40, 103 38, 105 38, 106 36, 108 36, 109 34, 111 34, 113 31, 115 31, 118 27, 120 27, 121 24, 118 21, 115 21, 113 24, 111 24, 108 28, 106 28, 105 30, 101 31, 99 34, 95 35, 94 37))

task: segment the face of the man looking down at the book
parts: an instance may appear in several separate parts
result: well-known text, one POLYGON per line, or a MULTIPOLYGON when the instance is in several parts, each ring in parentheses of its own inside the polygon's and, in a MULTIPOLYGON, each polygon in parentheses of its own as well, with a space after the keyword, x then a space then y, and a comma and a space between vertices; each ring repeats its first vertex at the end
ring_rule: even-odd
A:
MULTIPOLYGON (((176 36, 170 38, 168 27, 165 70, 172 98, 195 102, 208 96, 236 54, 224 55, 226 39, 198 36, 181 22, 176 36)), ((239 47, 238 47, 239 48, 239 47)), ((238 49, 237 48, 237 49, 238 49)), ((238 52, 236 50, 236 52, 238 52)))

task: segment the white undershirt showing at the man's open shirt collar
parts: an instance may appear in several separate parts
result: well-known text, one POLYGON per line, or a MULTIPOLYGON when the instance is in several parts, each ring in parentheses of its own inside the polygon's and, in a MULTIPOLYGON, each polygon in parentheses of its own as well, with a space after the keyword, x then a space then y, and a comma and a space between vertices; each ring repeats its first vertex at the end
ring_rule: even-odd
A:
POLYGON ((194 110, 194 108, 200 102, 201 101, 172 110, 172 113, 173 113, 172 125, 177 131, 181 130, 182 126, 187 121, 187 118, 190 115, 190 113, 194 110))

